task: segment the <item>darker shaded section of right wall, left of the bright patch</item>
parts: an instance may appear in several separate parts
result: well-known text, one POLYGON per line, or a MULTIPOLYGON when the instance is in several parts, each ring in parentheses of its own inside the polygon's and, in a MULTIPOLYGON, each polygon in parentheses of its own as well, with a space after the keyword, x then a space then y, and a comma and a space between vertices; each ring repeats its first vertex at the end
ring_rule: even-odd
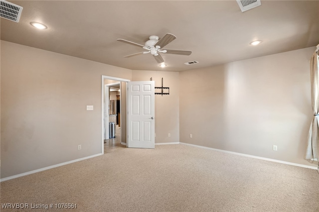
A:
POLYGON ((180 141, 224 149, 225 66, 184 71, 179 77, 180 141))

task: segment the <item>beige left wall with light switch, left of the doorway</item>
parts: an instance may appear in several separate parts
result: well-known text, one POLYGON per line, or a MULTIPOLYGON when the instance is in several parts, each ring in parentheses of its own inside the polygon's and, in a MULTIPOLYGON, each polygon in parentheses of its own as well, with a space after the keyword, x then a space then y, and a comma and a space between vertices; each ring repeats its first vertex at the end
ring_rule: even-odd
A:
POLYGON ((1 178, 101 153, 102 75, 132 71, 1 41, 1 178))

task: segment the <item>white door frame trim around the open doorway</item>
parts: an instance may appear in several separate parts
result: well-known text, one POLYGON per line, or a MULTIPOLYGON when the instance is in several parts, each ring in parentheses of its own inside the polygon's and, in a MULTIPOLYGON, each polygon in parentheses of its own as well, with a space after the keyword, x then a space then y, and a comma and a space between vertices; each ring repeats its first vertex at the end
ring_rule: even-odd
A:
MULTIPOLYGON (((114 81, 120 81, 121 82, 125 82, 126 84, 128 84, 128 82, 130 82, 131 80, 128 79, 123 79, 123 78, 118 78, 118 77, 111 77, 111 76, 106 76, 106 75, 102 75, 102 85, 101 85, 101 123, 102 123, 102 128, 101 128, 101 153, 104 154, 104 80, 108 79, 108 80, 114 80, 114 81)), ((122 94, 121 94, 121 98, 122 98, 122 94)), ((121 111, 121 112, 125 112, 127 114, 127 107, 128 107, 128 93, 126 92, 126 110, 125 111, 121 111)), ((121 107, 122 110, 122 107, 121 107)), ((122 115, 121 115, 122 118, 122 115)), ((127 119, 127 116, 126 116, 127 119)), ((126 131, 128 130, 128 121, 126 120, 126 131)), ((121 135, 122 136, 122 135, 121 135)), ((127 140, 127 136, 126 136, 126 140, 127 140)), ((128 142, 126 142, 126 145, 128 145, 128 142)))

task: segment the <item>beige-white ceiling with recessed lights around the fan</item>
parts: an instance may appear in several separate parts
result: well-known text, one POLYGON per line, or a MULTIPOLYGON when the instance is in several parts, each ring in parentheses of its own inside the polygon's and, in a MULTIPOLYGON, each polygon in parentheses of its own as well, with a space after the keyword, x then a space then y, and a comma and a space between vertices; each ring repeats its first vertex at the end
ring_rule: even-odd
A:
POLYGON ((261 0, 245 12, 235 0, 9 1, 23 10, 18 23, 0 18, 1 40, 132 70, 184 71, 319 44, 318 0, 261 0), (124 58, 144 50, 116 40, 144 45, 167 32, 177 39, 165 48, 192 54, 161 53, 165 68, 150 54, 124 58), (184 64, 193 60, 199 63, 184 64))

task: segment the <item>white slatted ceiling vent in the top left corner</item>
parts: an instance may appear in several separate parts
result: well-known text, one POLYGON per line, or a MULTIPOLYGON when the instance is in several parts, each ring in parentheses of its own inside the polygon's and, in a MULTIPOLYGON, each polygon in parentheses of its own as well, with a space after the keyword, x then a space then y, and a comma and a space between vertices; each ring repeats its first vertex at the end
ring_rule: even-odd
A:
POLYGON ((23 7, 5 0, 0 0, 0 17, 19 22, 23 7))

